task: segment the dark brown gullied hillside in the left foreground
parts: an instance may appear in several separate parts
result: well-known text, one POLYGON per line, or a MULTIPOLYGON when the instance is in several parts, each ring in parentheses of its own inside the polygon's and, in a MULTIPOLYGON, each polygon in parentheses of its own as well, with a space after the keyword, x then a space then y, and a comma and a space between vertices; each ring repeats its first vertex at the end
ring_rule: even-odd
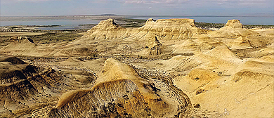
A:
POLYGON ((73 79, 65 72, 29 65, 15 57, 0 58, 0 117, 45 116, 41 108, 53 107, 59 94, 82 87, 73 79))

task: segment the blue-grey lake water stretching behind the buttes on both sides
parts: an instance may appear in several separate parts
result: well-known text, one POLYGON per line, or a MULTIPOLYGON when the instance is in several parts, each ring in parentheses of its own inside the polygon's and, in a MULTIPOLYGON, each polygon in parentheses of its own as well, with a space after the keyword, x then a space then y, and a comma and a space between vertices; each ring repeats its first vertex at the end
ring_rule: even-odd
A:
MULTIPOLYGON (((161 16, 161 17, 128 17, 133 19, 169 19, 169 18, 191 18, 195 22, 226 23, 228 20, 238 19, 244 25, 274 25, 273 17, 207 17, 207 16, 161 16)), ((79 25, 98 24, 100 20, 22 20, 22 21, 0 21, 0 26, 11 25, 61 25, 60 27, 41 27, 39 29, 81 29, 79 25)))

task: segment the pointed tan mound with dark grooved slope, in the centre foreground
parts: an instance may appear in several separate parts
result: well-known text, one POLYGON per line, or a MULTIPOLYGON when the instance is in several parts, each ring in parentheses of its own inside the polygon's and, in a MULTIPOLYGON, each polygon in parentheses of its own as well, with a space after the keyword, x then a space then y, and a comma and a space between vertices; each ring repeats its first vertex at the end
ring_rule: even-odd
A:
POLYGON ((191 107, 169 84, 143 79, 117 60, 105 60, 102 73, 92 89, 65 93, 48 117, 174 117, 191 107))

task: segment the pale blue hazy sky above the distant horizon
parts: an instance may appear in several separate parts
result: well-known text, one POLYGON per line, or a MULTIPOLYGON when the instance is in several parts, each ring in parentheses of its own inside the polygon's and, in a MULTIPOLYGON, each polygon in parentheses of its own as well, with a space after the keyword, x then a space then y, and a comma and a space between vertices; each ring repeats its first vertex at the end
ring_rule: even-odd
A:
POLYGON ((273 0, 0 0, 1 16, 273 15, 273 0))

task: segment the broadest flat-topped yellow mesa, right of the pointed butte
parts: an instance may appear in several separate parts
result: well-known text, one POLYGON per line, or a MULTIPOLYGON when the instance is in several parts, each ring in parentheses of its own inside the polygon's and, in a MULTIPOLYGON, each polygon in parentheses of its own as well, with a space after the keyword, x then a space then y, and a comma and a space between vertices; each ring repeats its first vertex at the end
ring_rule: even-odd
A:
POLYGON ((137 39, 148 39, 152 36, 165 39, 189 39, 198 34, 206 34, 207 30, 197 28, 193 19, 148 19, 143 27, 133 34, 137 39))

